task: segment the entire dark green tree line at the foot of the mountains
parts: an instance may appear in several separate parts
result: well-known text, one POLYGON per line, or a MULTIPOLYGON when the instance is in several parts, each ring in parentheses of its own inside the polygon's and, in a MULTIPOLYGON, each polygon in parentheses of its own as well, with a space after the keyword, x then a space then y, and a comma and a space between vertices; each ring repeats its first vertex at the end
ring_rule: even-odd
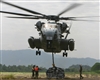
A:
MULTIPOLYGON (((33 65, 2 65, 0 64, 0 72, 31 72, 33 65)), ((89 71, 95 71, 100 73, 100 63, 95 63, 92 67, 88 65, 82 65, 83 72, 89 72, 89 71)), ((40 72, 46 72, 45 67, 39 67, 40 72)), ((79 65, 72 65, 69 68, 65 68, 65 72, 78 72, 79 71, 79 65)))

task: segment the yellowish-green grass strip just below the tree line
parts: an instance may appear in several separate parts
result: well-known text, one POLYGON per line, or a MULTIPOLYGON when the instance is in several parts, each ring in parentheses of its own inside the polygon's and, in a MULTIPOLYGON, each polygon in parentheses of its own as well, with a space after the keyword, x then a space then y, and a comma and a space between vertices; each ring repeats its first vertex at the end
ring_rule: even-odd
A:
MULTIPOLYGON (((14 78, 31 78, 32 73, 31 72, 0 72, 0 78, 3 79, 14 79, 14 78)), ((100 77, 99 73, 95 72, 83 72, 83 77, 92 78, 92 77, 100 77)), ((46 78, 45 72, 39 73, 40 78, 46 78)), ((78 78, 79 73, 75 72, 66 72, 65 77, 68 78, 78 78)))

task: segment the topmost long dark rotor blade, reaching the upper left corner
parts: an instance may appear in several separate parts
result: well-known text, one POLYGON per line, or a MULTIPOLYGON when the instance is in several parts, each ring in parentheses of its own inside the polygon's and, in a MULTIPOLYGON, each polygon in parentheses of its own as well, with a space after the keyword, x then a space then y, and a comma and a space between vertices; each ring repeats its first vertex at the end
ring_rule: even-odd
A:
POLYGON ((15 4, 11 4, 11 3, 9 3, 9 2, 5 2, 5 1, 3 1, 3 0, 0 0, 0 2, 2 2, 2 3, 4 3, 4 4, 7 4, 7 5, 10 5, 10 6, 13 6, 13 7, 16 7, 16 8, 19 8, 19 9, 21 9, 21 10, 27 11, 27 12, 32 13, 32 14, 38 14, 38 15, 45 16, 44 14, 41 14, 41 13, 38 13, 38 12, 36 12, 36 11, 32 11, 32 10, 29 10, 29 9, 26 9, 26 8, 23 8, 23 7, 20 7, 20 6, 17 6, 17 5, 15 5, 15 4))

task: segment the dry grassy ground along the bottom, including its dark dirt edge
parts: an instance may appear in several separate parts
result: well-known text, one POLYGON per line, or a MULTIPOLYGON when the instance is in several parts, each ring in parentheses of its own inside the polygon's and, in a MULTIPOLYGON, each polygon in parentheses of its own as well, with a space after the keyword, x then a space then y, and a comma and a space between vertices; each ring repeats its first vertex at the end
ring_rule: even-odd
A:
MULTIPOLYGON (((82 80, 100 80, 100 74, 83 74, 82 80)), ((47 79, 45 73, 40 73, 38 79, 31 79, 31 73, 2 73, 0 75, 0 80, 80 80, 78 73, 72 74, 67 73, 64 79, 47 79), (2 76, 2 77, 1 77, 2 76)))

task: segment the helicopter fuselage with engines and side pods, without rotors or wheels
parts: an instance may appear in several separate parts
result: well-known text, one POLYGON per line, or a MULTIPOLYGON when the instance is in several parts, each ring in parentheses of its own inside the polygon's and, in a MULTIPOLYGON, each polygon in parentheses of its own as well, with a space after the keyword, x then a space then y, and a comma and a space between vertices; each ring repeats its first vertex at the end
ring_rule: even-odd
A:
POLYGON ((62 33, 68 28, 67 24, 54 22, 41 23, 39 21, 36 26, 40 32, 40 38, 34 39, 31 37, 28 39, 31 48, 44 49, 45 52, 55 53, 59 53, 61 50, 74 50, 74 40, 62 38, 62 33))

